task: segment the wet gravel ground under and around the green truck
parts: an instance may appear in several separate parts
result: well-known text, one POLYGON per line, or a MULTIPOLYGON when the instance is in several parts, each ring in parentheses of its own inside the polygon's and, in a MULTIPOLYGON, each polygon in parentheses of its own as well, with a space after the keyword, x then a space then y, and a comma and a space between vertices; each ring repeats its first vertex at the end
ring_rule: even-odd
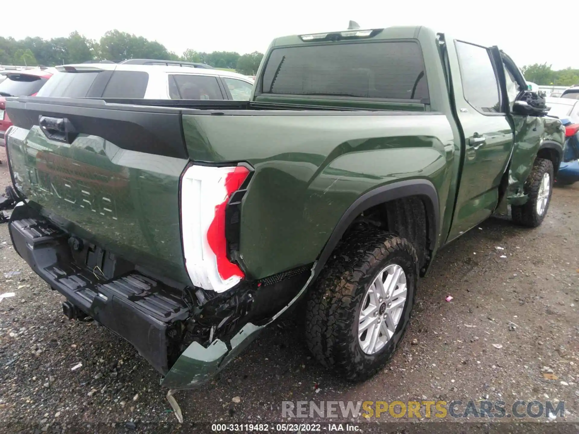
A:
MULTIPOLYGON (((1 147, 0 160, 3 186, 9 176, 1 147)), ((0 294, 16 296, 0 301, 0 432, 124 432, 133 426, 136 432, 201 432, 214 422, 282 421, 283 400, 466 401, 487 395, 507 403, 564 400, 565 421, 572 423, 558 418, 537 432, 555 426, 577 432, 578 193, 579 186, 556 189, 538 229, 493 218, 441 251, 420 282, 397 354, 371 380, 350 384, 332 377, 310 358, 299 327, 285 321, 263 332, 210 384, 177 393, 182 425, 159 374, 96 323, 65 319, 63 297, 14 252, 2 224, 0 294), (20 274, 5 277, 10 271, 20 274), (82 367, 72 370, 78 363, 82 367)), ((356 424, 368 432, 377 426, 372 422, 356 424)), ((508 425, 504 432, 521 428, 508 425)), ((539 424, 522 424, 530 425, 539 424)), ((431 424, 416 426, 434 431, 431 424)))

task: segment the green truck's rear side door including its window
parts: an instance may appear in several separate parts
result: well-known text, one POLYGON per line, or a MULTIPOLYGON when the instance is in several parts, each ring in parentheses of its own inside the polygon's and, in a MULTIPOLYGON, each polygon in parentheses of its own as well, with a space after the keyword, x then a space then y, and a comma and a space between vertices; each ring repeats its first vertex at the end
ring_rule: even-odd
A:
POLYGON ((460 128, 464 134, 459 192, 448 241, 492 214, 513 146, 490 49, 463 41, 448 46, 460 128))

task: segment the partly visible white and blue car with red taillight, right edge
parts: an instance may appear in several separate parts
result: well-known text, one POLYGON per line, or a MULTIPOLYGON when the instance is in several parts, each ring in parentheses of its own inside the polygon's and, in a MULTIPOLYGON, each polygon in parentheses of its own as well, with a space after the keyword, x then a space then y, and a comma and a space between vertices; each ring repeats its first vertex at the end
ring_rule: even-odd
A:
POLYGON ((573 160, 571 151, 574 146, 579 145, 579 100, 545 98, 545 102, 551 107, 548 114, 557 116, 565 126, 565 155, 559 164, 555 185, 570 185, 579 181, 579 160, 573 160))

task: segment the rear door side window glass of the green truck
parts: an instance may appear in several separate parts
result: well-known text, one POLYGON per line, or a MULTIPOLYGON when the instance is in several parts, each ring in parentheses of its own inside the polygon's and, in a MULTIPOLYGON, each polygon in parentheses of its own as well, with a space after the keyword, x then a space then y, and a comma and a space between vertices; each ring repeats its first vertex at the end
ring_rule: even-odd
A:
POLYGON ((464 98, 478 112, 500 113, 499 82, 485 47, 456 41, 464 98))

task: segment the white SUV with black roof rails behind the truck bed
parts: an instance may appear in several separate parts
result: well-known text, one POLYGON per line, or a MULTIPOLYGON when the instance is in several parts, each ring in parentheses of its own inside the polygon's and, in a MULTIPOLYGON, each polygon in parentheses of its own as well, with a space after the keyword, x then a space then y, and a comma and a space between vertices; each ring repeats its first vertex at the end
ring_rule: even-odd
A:
POLYGON ((151 59, 56 67, 39 97, 248 101, 254 81, 209 65, 151 59))

